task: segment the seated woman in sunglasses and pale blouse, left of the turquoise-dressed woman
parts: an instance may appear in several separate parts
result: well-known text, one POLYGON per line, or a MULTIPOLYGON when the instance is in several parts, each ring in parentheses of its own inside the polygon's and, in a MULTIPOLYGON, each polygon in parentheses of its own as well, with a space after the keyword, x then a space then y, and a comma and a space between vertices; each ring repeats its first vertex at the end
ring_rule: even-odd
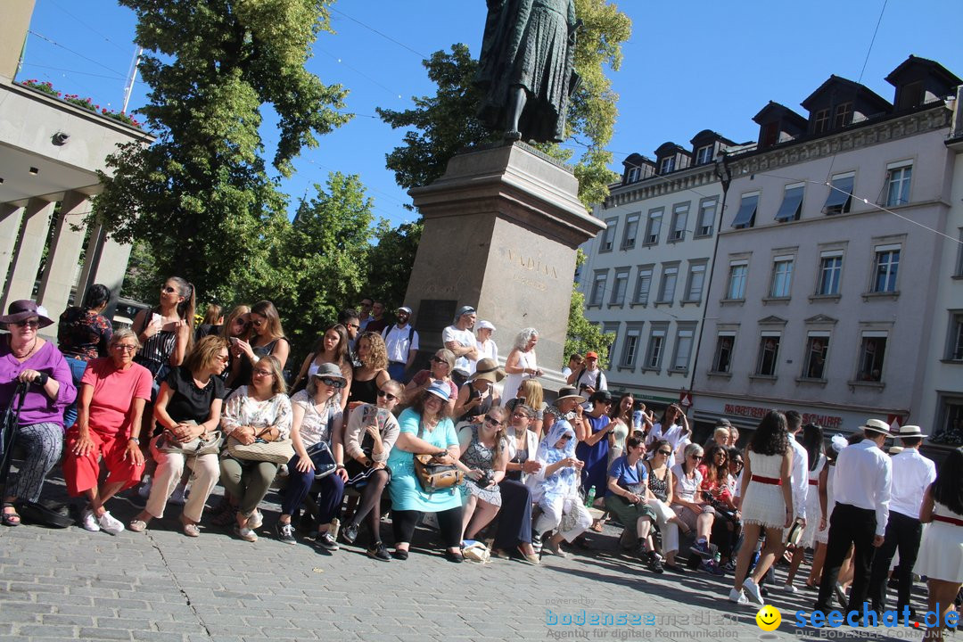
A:
POLYGON ((381 543, 381 495, 391 481, 387 467, 388 455, 398 439, 401 426, 391 414, 402 401, 404 387, 389 379, 377 391, 377 403, 366 403, 351 411, 345 428, 346 485, 361 494, 361 504, 354 511, 351 522, 341 530, 341 536, 353 544, 362 522, 368 525, 368 556, 382 562, 391 555, 381 543))

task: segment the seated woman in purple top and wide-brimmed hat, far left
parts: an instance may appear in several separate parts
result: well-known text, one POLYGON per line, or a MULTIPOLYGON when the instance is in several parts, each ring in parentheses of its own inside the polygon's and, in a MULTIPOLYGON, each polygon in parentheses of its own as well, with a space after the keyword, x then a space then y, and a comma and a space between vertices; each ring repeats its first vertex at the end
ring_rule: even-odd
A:
POLYGON ((16 478, 7 479, 0 516, 4 526, 20 524, 15 501, 39 500, 43 479, 64 447, 64 408, 77 397, 64 355, 37 335, 53 323, 46 314, 34 301, 19 300, 0 317, 10 332, 0 339, 0 408, 10 405, 20 382, 29 386, 11 445, 23 449, 24 461, 16 478))

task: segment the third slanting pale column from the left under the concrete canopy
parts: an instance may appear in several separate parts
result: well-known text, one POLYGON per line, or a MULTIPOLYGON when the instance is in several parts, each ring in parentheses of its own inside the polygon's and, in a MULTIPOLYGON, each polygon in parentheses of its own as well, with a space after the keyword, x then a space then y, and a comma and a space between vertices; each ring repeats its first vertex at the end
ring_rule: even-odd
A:
MULTIPOLYGON (((70 289, 77 285, 79 259, 84 245, 87 225, 84 217, 91 212, 91 200, 87 194, 67 192, 61 201, 60 217, 54 239, 47 252, 47 266, 40 280, 37 299, 51 315, 60 315, 70 299, 70 289), (83 224, 81 229, 73 226, 83 224)), ((74 303, 84 299, 84 291, 77 290, 74 303)))

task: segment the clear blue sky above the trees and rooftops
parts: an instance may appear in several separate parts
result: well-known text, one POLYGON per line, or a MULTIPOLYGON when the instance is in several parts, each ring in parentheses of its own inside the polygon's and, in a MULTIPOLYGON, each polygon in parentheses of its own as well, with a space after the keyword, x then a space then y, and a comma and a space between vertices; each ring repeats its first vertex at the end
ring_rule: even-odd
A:
MULTIPOLYGON (((620 95, 609 145, 616 171, 630 153, 652 157, 664 141, 688 147, 702 129, 755 140, 751 118, 768 100, 805 116, 799 103, 833 73, 854 81, 862 75, 890 101, 893 88, 883 78, 909 54, 963 77, 958 0, 615 4, 633 21, 622 67, 611 73, 620 95)), ((455 42, 477 55, 484 13, 483 0, 339 0, 332 11, 337 33, 320 36, 308 68, 351 90, 348 111, 357 116, 304 152, 284 190, 298 198, 330 170, 356 173, 377 216, 394 224, 413 218, 403 209, 409 197, 384 167, 403 133, 383 124, 375 107, 402 110, 412 96, 433 93, 423 56, 455 42)), ((134 26, 134 14, 111 0, 37 0, 18 79, 48 80, 119 109, 134 26)), ((138 84, 129 109, 142 106, 145 95, 138 84)))

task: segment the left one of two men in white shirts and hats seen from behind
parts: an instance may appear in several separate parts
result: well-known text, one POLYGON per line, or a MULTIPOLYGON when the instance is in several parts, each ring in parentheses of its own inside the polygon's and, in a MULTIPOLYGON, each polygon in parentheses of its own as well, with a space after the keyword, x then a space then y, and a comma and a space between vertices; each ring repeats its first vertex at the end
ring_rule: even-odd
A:
POLYGON ((832 474, 835 508, 829 520, 826 561, 814 611, 830 610, 829 600, 851 545, 853 579, 847 610, 862 612, 870 588, 872 556, 882 545, 889 522, 893 465, 880 448, 890 433, 890 424, 869 419, 860 427, 863 441, 840 452, 832 474))

